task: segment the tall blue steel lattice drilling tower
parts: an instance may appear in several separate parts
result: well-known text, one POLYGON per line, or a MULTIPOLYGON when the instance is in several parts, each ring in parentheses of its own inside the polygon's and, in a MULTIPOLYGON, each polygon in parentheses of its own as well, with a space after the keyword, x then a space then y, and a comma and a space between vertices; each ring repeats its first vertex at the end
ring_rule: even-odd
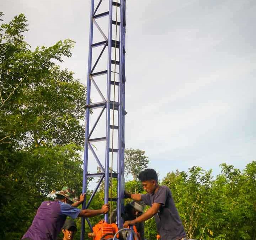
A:
MULTIPOLYGON (((104 203, 108 203, 109 200, 117 201, 117 225, 119 228, 122 226, 121 208, 124 194, 125 28, 126 0, 99 0, 97 4, 91 0, 82 192, 86 193, 89 177, 99 177, 100 180, 89 201, 83 203, 82 209, 89 208, 96 191, 104 182, 104 203), (105 10, 101 11, 104 4, 105 10), (102 27, 104 23, 107 26, 105 29, 102 27), (100 40, 95 40, 96 37, 100 40), (104 84, 102 85, 102 83, 104 84), (101 87, 99 87, 100 85, 101 87), (94 86, 94 92, 92 86, 94 86), (100 101, 94 101, 96 97, 92 96, 93 93, 100 96, 100 101), (100 109, 100 111, 97 118, 92 121, 92 115, 96 114, 96 109, 100 109), (90 114, 91 111, 93 114, 90 114), (103 116, 106 117, 103 119, 105 126, 99 127, 103 116), (97 128, 97 133, 100 133, 100 136, 93 137, 97 128), (95 149, 96 142, 104 143, 104 153, 95 149), (89 156, 89 152, 92 157, 89 156), (113 159, 117 160, 117 170, 114 173, 112 173, 113 159), (98 171, 95 173, 88 172, 89 162, 91 164, 92 161, 98 166, 98 171), (109 196, 110 178, 111 181, 112 178, 117 178, 117 197, 112 198, 111 196, 111 199, 109 196)), ((108 221, 107 214, 105 220, 108 221)), ((92 228, 89 219, 83 218, 82 240, 84 239, 85 221, 92 228)))

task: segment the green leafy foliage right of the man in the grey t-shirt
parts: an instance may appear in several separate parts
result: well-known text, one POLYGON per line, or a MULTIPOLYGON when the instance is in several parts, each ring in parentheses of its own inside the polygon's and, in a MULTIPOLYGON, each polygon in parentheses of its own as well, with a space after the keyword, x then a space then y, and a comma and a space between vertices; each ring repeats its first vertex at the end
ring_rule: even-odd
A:
POLYGON ((215 180, 211 171, 192 167, 171 172, 162 181, 170 187, 191 239, 255 240, 256 162, 244 171, 221 164, 215 180))

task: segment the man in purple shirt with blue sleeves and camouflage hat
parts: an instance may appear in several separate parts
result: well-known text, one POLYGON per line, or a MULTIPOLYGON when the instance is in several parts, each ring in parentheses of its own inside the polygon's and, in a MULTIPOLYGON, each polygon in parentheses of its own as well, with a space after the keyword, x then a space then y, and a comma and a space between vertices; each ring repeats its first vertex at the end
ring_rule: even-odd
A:
POLYGON ((73 193, 70 188, 64 187, 55 193, 55 201, 42 202, 32 225, 23 235, 22 240, 55 240, 67 216, 75 219, 77 217, 94 217, 108 212, 109 204, 104 204, 101 209, 97 210, 76 208, 84 202, 85 195, 81 194, 79 201, 73 203, 73 193))

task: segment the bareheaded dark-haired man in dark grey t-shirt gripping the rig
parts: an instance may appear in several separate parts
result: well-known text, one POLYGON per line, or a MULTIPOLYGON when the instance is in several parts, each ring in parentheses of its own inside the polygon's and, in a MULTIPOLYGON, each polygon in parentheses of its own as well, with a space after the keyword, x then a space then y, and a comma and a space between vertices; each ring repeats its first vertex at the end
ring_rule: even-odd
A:
POLYGON ((154 216, 161 240, 186 240, 186 233, 170 188, 158 185, 158 176, 154 169, 145 169, 140 172, 139 180, 147 194, 125 193, 125 195, 134 201, 144 201, 151 208, 140 217, 124 222, 123 227, 127 228, 128 225, 135 225, 154 216))

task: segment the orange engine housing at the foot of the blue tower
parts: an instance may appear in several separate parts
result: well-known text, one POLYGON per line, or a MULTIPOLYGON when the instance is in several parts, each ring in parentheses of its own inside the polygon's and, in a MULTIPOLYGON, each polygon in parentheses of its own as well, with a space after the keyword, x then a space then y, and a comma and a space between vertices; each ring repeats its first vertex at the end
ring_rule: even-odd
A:
POLYGON ((89 238, 93 238, 93 240, 110 239, 116 234, 118 227, 115 223, 110 224, 101 220, 92 228, 92 230, 93 233, 88 234, 89 238))

